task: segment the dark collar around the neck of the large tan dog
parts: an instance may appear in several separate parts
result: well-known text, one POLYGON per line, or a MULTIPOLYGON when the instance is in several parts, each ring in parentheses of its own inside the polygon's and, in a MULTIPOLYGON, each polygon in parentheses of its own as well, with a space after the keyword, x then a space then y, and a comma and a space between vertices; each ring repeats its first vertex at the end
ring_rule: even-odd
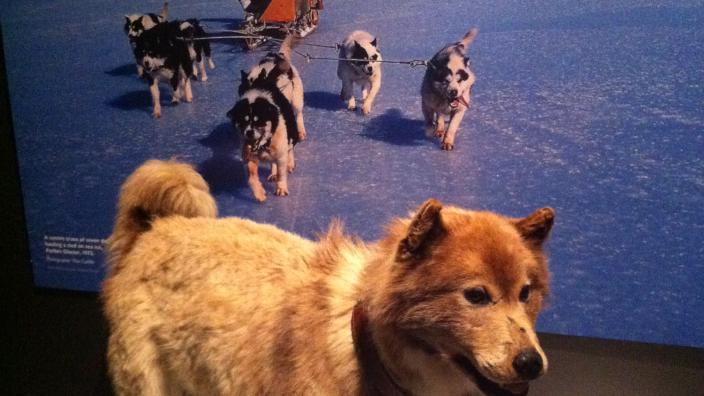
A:
POLYGON ((359 362, 362 394, 365 396, 410 396, 411 393, 399 385, 389 374, 374 345, 369 317, 360 301, 352 311, 352 340, 359 362))

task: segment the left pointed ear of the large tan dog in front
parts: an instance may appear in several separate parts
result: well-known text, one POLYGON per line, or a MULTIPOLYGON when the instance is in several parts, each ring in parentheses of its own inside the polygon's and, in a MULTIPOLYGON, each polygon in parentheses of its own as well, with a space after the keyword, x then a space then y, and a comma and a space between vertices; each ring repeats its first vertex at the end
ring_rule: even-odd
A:
POLYGON ((425 201, 411 220, 406 236, 398 245, 397 259, 408 261, 422 256, 428 244, 445 232, 440 211, 442 204, 435 199, 425 201))

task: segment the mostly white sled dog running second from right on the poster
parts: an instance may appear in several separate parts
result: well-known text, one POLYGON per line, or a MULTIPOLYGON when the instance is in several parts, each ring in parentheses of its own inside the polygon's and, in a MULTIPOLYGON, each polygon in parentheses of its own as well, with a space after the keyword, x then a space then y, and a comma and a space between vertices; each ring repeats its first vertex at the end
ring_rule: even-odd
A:
POLYGON ((377 40, 371 34, 356 30, 352 32, 340 47, 340 59, 362 59, 359 61, 340 60, 337 63, 337 76, 342 80, 340 97, 347 102, 347 108, 354 110, 354 84, 362 87, 362 113, 372 111, 374 98, 381 88, 381 52, 377 40))

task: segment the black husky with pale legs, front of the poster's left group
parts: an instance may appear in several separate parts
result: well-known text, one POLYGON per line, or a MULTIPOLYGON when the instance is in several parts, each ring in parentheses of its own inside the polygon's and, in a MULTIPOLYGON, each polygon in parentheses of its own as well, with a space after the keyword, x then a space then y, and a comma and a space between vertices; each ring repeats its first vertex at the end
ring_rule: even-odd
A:
POLYGON ((154 104, 152 115, 155 118, 161 117, 160 81, 168 82, 171 86, 172 103, 178 103, 182 97, 186 102, 193 100, 193 60, 188 43, 181 37, 180 24, 180 21, 159 23, 143 32, 135 41, 134 55, 149 82, 154 104))

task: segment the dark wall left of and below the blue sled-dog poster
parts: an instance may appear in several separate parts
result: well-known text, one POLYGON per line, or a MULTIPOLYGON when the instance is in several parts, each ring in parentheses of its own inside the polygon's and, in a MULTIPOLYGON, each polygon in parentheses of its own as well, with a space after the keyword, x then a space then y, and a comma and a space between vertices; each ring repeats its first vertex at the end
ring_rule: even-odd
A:
MULTIPOLYGON (((0 378, 7 382, 0 394, 110 394, 104 360, 107 329, 97 296, 32 286, 2 59, 0 67, 0 290, 5 318, 0 378)), ((534 395, 704 394, 703 350, 556 335, 541 339, 550 373, 533 386, 534 395)))

